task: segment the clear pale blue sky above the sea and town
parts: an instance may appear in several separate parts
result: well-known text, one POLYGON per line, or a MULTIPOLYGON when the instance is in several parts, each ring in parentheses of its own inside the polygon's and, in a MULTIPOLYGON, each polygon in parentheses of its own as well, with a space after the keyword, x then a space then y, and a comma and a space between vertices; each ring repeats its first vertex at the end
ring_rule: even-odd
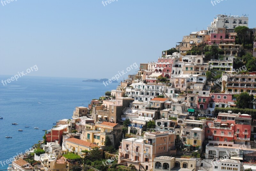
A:
POLYGON ((256 27, 255 4, 255 0, 216 4, 211 0, 13 0, 4 4, 2 0, 0 75, 26 73, 34 66, 37 71, 26 75, 99 79, 124 70, 122 77, 127 78, 137 72, 136 65, 156 61, 182 36, 207 29, 217 14, 247 14, 249 28, 256 27))

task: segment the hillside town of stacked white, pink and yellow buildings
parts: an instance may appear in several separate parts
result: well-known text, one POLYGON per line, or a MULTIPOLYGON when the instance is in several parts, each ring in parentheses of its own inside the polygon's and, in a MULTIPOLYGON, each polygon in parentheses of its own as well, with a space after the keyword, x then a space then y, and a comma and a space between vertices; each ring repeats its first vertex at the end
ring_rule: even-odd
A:
POLYGON ((8 170, 256 171, 256 28, 248 22, 215 16, 60 118, 8 170))

